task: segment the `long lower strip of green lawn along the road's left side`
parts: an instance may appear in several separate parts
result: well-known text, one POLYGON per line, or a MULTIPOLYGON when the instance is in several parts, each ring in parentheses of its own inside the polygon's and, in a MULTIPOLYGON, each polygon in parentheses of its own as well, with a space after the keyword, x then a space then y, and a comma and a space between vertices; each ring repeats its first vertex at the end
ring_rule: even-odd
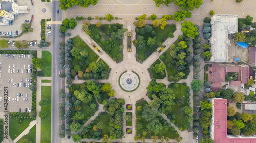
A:
POLYGON ((49 105, 46 107, 41 107, 41 110, 47 111, 47 116, 45 119, 41 119, 41 142, 51 142, 51 118, 52 118, 52 87, 42 86, 41 87, 41 100, 48 99, 49 105))

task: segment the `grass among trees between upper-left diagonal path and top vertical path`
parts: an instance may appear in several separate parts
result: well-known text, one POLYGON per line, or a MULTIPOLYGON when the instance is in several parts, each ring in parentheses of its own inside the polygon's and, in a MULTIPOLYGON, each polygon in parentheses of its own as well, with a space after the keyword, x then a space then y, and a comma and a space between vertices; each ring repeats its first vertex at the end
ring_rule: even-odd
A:
POLYGON ((122 44, 122 42, 120 42, 120 39, 116 38, 116 39, 113 39, 112 37, 112 42, 111 43, 107 43, 107 41, 109 40, 110 37, 108 38, 103 38, 101 37, 101 34, 102 33, 105 33, 106 36, 110 35, 110 33, 114 32, 114 29, 113 29, 113 25, 109 25, 109 24, 103 24, 102 26, 100 27, 97 27, 96 25, 92 24, 91 26, 89 26, 89 28, 91 28, 93 31, 91 33, 91 38, 102 48, 104 49, 104 47, 106 47, 107 45, 111 44, 112 42, 115 44, 114 47, 112 47, 112 49, 110 50, 110 52, 108 53, 111 58, 116 58, 116 55, 118 53, 122 53, 122 51, 119 51, 119 46, 122 44), (105 31, 101 31, 101 27, 104 26, 105 27, 105 31), (109 27, 111 26, 111 27, 109 27), (96 40, 94 38, 94 36, 96 34, 99 34, 100 35, 100 39, 99 40, 96 40))

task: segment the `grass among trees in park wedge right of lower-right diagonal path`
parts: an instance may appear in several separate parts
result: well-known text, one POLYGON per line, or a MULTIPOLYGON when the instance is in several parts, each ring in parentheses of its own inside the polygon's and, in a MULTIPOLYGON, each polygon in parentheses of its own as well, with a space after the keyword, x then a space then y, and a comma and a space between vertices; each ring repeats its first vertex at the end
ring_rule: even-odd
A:
POLYGON ((177 115, 177 117, 175 119, 176 124, 178 124, 179 127, 184 128, 185 113, 183 112, 182 114, 180 114, 178 112, 178 109, 182 108, 186 105, 187 98, 184 99, 183 104, 179 104, 178 99, 181 98, 181 97, 185 97, 186 89, 188 89, 188 87, 187 87, 187 85, 183 85, 183 83, 178 83, 178 84, 179 84, 178 88, 174 88, 174 83, 172 83, 168 86, 168 88, 171 88, 174 91, 175 105, 172 105, 172 109, 166 110, 166 112, 170 112, 170 111, 174 112, 177 115))

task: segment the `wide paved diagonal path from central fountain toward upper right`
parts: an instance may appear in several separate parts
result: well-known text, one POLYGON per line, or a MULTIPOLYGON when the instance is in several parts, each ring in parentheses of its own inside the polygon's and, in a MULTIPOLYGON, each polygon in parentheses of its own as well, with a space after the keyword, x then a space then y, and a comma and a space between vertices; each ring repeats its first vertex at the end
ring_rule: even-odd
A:
MULTIPOLYGON (((146 68, 150 67, 158 58, 160 55, 162 55, 169 47, 170 45, 172 45, 180 35, 182 35, 182 31, 181 31, 181 25, 176 25, 176 31, 174 32, 174 38, 168 38, 163 42, 163 45, 166 45, 166 47, 159 53, 157 54, 157 52, 153 52, 150 57, 148 57, 146 59, 146 61, 144 61, 142 63, 142 65, 146 68)), ((161 49, 161 47, 157 48, 157 51, 159 51, 161 49)))

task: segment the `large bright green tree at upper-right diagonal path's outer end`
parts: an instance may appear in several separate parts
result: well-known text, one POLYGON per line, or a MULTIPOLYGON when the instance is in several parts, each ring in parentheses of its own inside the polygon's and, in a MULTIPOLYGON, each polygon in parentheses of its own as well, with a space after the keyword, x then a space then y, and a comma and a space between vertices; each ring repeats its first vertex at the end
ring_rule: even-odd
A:
MULTIPOLYGON (((177 0, 178 1, 178 0, 177 0)), ((197 32, 197 27, 195 26, 194 23, 190 21, 184 21, 181 23, 181 31, 187 36, 187 37, 192 37, 193 39, 195 36, 199 35, 197 32)))

